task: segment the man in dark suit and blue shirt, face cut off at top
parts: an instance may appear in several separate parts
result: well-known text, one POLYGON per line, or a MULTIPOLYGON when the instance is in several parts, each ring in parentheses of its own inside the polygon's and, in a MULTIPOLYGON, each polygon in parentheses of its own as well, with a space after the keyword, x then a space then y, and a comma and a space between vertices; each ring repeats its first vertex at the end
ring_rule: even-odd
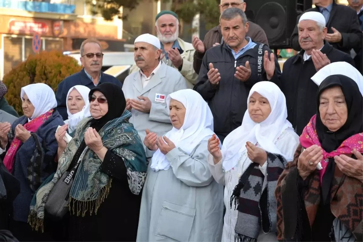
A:
MULTIPOLYGON (((328 33, 325 40, 334 48, 350 54, 351 49, 360 49, 363 45, 363 32, 360 30, 356 11, 348 6, 336 4, 334 0, 313 0, 315 8, 305 12, 316 11, 323 14, 328 33)), ((300 16, 298 16, 298 20, 300 16)), ((291 47, 301 50, 299 30, 296 26, 290 38, 291 47)))

